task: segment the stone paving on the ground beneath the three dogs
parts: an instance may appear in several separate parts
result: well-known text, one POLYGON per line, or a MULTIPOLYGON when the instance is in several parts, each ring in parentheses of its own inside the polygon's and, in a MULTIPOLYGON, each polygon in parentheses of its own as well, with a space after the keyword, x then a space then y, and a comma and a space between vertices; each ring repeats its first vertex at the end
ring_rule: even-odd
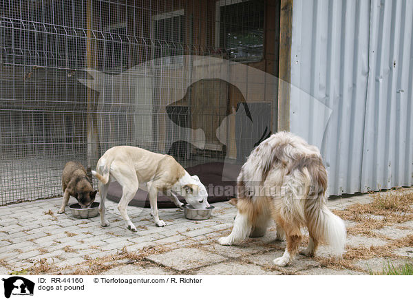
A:
MULTIPOLYGON (((97 199, 99 201, 99 199, 97 199)), ((331 209, 346 209, 353 203, 366 204, 370 195, 330 200, 331 209)), ((76 200, 71 198, 70 204, 76 200)), ((285 242, 275 242, 275 226, 268 228, 264 237, 248 239, 240 246, 220 246, 216 239, 228 235, 236 215, 229 202, 214 204, 211 219, 191 221, 176 208, 160 209, 160 218, 167 226, 156 227, 148 208, 129 206, 131 221, 138 228, 132 233, 125 228, 116 203, 107 201, 109 227, 100 227, 100 217, 76 219, 70 209, 56 212, 61 198, 37 200, 0 207, 0 274, 30 269, 39 261, 52 264, 61 272, 72 274, 78 266, 92 268, 96 259, 114 256, 120 251, 140 253, 145 249, 162 246, 159 253, 149 253, 139 264, 132 260, 116 261, 113 268, 102 275, 368 275, 370 270, 381 270, 386 259, 357 261, 358 270, 326 268, 319 260, 297 255, 293 264, 275 268, 273 259, 283 253, 285 242), (85 264, 92 261, 89 266, 85 264), (86 266, 86 267, 85 267, 86 266)), ((379 217, 379 216, 372 216, 379 217)), ((352 222, 346 222, 352 226, 352 222)), ((353 222, 354 223, 354 222, 353 222)), ((380 237, 348 236, 348 246, 383 246, 394 238, 413 234, 413 222, 385 227, 380 237), (403 228, 403 229, 401 229, 403 228)), ((397 248, 394 264, 412 259, 412 247, 397 248)), ((328 248, 321 246, 316 253, 328 257, 328 248)), ((394 257, 393 257, 394 258, 394 257)), ((56 270, 56 269, 55 269, 56 270)))

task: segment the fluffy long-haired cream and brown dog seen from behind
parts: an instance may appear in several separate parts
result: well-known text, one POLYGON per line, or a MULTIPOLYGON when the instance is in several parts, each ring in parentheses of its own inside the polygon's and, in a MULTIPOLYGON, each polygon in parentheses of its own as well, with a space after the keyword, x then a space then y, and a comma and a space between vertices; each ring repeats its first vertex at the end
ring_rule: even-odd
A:
POLYGON ((286 250, 277 266, 293 261, 306 226, 310 242, 301 254, 313 256, 319 242, 328 242, 337 255, 346 245, 346 226, 326 206, 327 172, 319 150, 292 133, 273 134, 256 147, 237 178, 237 217, 222 245, 262 236, 271 221, 277 239, 286 237, 286 250))

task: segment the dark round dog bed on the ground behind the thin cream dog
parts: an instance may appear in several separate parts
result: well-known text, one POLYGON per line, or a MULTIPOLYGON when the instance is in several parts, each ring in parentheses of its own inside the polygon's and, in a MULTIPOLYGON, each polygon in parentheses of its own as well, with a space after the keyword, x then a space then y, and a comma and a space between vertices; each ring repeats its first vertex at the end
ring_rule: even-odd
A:
MULTIPOLYGON (((223 162, 208 162, 206 164, 198 164, 195 167, 187 168, 190 175, 198 175, 202 184, 208 192, 208 202, 222 202, 231 199, 235 195, 235 186, 237 184, 237 176, 241 169, 240 164, 224 164, 223 162)), ((107 199, 119 202, 122 197, 122 186, 116 181, 112 181, 107 192, 107 199)), ((185 200, 178 196, 182 203, 185 200)), ((129 202, 131 206, 150 207, 148 193, 142 189, 138 189, 134 198, 129 202)), ((176 207, 171 200, 165 195, 158 195, 158 208, 174 208, 176 207)))

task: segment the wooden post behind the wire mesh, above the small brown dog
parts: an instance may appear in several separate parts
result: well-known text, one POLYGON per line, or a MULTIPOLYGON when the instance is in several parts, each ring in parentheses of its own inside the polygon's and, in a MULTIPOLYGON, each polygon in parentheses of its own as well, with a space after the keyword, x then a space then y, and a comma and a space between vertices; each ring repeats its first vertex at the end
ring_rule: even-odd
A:
MULTIPOLYGON (((93 39, 92 0, 87 0, 86 22, 86 65, 87 69, 96 69, 96 41, 93 39)), ((95 109, 96 92, 87 89, 87 175, 92 180, 92 167, 99 157, 99 138, 95 109)), ((94 169, 94 168, 93 168, 94 169)))

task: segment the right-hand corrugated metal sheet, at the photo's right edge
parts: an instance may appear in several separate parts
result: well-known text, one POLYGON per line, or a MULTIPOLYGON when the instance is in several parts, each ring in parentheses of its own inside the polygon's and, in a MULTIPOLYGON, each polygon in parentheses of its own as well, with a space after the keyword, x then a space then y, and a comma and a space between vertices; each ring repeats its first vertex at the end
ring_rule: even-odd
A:
POLYGON ((412 185, 411 1, 372 1, 361 191, 412 185), (403 91, 403 92, 402 92, 403 91), (406 95, 406 96, 405 96, 406 95))

